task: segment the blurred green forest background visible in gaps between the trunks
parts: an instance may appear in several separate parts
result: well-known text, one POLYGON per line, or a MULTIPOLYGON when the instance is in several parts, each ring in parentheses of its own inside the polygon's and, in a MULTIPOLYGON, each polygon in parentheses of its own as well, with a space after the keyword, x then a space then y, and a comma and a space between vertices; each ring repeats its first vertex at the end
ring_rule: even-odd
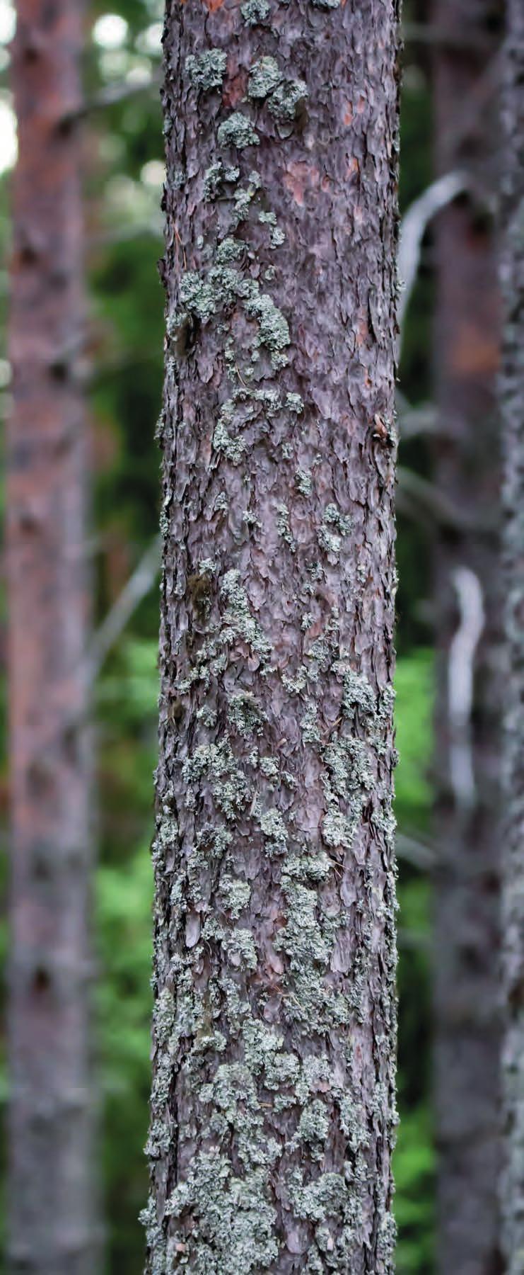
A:
MULTIPOLYGON (((89 414, 94 469, 92 551, 97 625, 118 621, 122 589, 139 569, 140 602, 104 658, 97 685, 95 880, 97 1057, 102 1094, 100 1179, 107 1271, 139 1275, 146 1198, 153 769, 156 752, 159 456, 154 440, 163 372, 159 102, 160 0, 112 0, 86 14, 85 218, 89 288, 89 414), (145 588, 142 580, 146 580, 145 588), (113 608, 117 608, 114 612, 113 608)), ((431 41, 427 4, 404 4, 401 210, 435 175, 431 41)), ((1 0, 0 235, 9 254, 13 116, 9 40, 13 10, 1 0)), ((6 273, 0 277, 1 414, 9 407, 5 357, 6 273)), ((424 233, 407 310, 401 390, 418 419, 431 419, 435 242, 424 233), (424 416, 425 413, 425 416, 424 416)), ((402 422, 401 422, 402 423, 402 422)), ((401 431, 401 467, 416 483, 431 476, 429 435, 401 431)), ((399 1109, 396 1153, 398 1275, 430 1275, 435 1250, 435 1151, 431 1099, 431 825, 435 686, 432 537, 424 500, 399 501, 397 819, 399 847, 399 1109)), ((4 616, 3 616, 4 623, 4 616)), ((117 623, 118 627, 118 623, 117 623)), ((1 813, 6 843, 6 762, 1 813)), ((1 931, 5 945, 5 927, 1 931)), ((5 1085, 3 1085, 5 1096, 5 1085)))

